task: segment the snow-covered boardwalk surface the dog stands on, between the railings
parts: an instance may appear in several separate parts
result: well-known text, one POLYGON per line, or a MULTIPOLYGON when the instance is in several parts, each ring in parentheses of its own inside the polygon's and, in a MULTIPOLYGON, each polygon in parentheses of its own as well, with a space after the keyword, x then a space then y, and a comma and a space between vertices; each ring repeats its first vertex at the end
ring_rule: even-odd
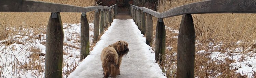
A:
POLYGON ((114 19, 111 26, 69 78, 103 78, 100 54, 104 47, 123 40, 129 44, 129 52, 123 57, 118 78, 166 78, 155 63, 155 54, 145 43, 145 38, 132 19, 114 19))

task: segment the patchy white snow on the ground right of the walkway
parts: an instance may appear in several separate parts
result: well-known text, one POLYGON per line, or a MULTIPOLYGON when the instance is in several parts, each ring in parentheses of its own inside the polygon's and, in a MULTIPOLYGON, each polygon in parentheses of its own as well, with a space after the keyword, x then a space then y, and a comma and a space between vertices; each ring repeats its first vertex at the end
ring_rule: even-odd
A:
MULTIPOLYGON (((179 33, 179 30, 174 30, 173 28, 166 27, 166 30, 171 31, 172 33, 179 33)), ((178 38, 178 36, 173 36, 171 38, 178 38)), ((256 40, 254 40, 256 42, 256 40)), ((241 43, 245 43, 245 41, 237 41, 236 45, 240 45, 241 43)), ((196 40, 196 47, 202 45, 196 40)), ((248 78, 255 78, 253 75, 256 74, 256 49, 249 47, 244 49, 242 47, 237 48, 226 48, 224 52, 217 52, 222 47, 223 43, 213 43, 210 42, 208 44, 208 50, 199 50, 195 52, 196 54, 209 54, 209 57, 212 61, 218 61, 218 64, 226 63, 225 59, 234 61, 229 64, 230 70, 236 70, 236 73, 240 73, 241 75, 246 75, 248 78), (246 53, 248 52, 248 53, 246 53)), ((172 50, 171 45, 167 45, 168 50, 172 50)), ((177 55, 177 53, 174 53, 177 55)), ((203 66, 202 66, 203 67, 203 66)), ((214 71, 213 71, 214 72, 214 71)), ((222 73, 219 73, 220 75, 222 73)))

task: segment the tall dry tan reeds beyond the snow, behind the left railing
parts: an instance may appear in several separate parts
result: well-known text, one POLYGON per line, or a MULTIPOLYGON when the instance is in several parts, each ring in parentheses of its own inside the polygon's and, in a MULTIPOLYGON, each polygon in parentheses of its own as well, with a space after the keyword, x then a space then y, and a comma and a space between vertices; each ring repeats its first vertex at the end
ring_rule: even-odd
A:
MULTIPOLYGON (((61 3, 75 6, 94 6, 95 0, 38 0, 44 2, 61 3)), ((8 38, 18 32, 27 32, 18 30, 21 28, 34 28, 40 33, 48 24, 51 13, 5 13, 0 12, 0 40, 8 38), (38 28, 43 28, 38 30, 38 28)), ((61 13, 62 23, 79 23, 81 13, 61 13)), ((88 20, 93 20, 93 12, 87 13, 88 20)))

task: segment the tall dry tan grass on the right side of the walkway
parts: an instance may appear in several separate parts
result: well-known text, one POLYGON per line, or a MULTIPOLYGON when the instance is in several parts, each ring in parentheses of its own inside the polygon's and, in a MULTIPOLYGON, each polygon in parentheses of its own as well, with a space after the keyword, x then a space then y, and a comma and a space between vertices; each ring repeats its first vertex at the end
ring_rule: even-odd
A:
MULTIPOLYGON (((168 9, 199 2, 203 0, 159 0, 157 8, 158 12, 164 12, 168 9)), ((196 30, 196 40, 202 43, 202 46, 196 47, 196 51, 206 50, 211 51, 208 47, 209 42, 223 43, 221 49, 217 51, 226 52, 226 48, 235 49, 243 47, 243 53, 249 52, 248 48, 255 48, 256 39, 256 15, 255 14, 193 14, 193 21, 196 30), (236 45, 236 42, 242 40, 243 43, 236 45)), ((175 16, 163 19, 167 27, 172 27, 179 30, 182 16, 175 16)), ((154 18, 154 21, 157 21, 154 18)), ((154 22, 156 26, 156 22, 154 22)), ((155 28, 155 27, 154 27, 155 28)), ((154 29, 155 31, 155 29, 154 29)), ((177 33, 172 33, 166 30, 166 45, 173 47, 172 50, 166 50, 165 73, 168 78, 176 77, 176 62, 177 62, 177 33)), ((210 54, 196 54, 195 56, 195 76, 217 77, 218 73, 222 73, 218 77, 245 77, 229 70, 229 64, 232 60, 226 60, 227 63, 216 64, 216 61, 211 61, 210 54), (207 66, 207 67, 201 67, 207 66)))

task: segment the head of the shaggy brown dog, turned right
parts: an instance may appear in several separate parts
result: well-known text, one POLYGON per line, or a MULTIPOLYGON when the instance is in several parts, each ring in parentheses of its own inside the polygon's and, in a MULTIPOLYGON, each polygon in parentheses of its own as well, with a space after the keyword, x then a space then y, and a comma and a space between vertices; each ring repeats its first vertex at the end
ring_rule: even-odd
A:
POLYGON ((125 41, 117 41, 116 43, 114 43, 114 48, 118 53, 118 55, 121 55, 121 56, 127 54, 129 51, 128 43, 125 41))

